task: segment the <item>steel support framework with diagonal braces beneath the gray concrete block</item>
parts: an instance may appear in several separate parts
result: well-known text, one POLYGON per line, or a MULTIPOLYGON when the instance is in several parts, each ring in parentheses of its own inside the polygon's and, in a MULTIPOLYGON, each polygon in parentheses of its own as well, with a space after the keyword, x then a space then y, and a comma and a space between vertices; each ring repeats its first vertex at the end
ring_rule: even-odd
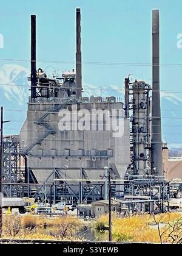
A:
POLYGON ((86 171, 84 168, 80 168, 79 172, 80 181, 77 180, 68 180, 61 176, 59 169, 55 168, 47 176, 43 184, 37 184, 36 180, 33 177, 32 169, 28 169, 27 175, 27 196, 41 199, 44 201, 46 199, 52 199, 53 203, 62 200, 65 200, 68 203, 80 203, 89 201, 97 201, 104 198, 104 191, 106 186, 106 181, 102 177, 98 182, 91 183, 87 177, 86 171), (31 183, 32 182, 32 183, 31 183), (78 193, 75 193, 73 187, 78 190, 78 193), (52 190, 53 188, 53 190, 52 190))

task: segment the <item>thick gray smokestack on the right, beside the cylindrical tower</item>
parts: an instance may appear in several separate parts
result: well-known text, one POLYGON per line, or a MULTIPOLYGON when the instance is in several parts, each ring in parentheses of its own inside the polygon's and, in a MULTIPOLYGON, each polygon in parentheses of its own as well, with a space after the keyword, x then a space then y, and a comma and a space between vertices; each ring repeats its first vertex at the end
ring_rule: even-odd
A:
POLYGON ((163 176, 160 105, 160 15, 152 11, 152 174, 163 176))

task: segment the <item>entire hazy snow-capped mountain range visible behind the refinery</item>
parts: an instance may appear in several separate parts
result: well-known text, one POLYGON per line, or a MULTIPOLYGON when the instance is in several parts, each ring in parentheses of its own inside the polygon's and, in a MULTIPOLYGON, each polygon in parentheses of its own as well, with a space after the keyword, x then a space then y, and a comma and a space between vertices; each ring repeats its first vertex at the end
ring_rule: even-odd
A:
MULTIPOLYGON (((29 97, 29 69, 20 65, 0 66, 0 101, 4 106, 5 134, 19 133, 24 123, 29 97)), ((84 96, 116 96, 124 98, 123 86, 98 86, 83 84, 84 96)), ((173 147, 182 147, 182 99, 181 94, 161 93, 163 140, 173 147)))

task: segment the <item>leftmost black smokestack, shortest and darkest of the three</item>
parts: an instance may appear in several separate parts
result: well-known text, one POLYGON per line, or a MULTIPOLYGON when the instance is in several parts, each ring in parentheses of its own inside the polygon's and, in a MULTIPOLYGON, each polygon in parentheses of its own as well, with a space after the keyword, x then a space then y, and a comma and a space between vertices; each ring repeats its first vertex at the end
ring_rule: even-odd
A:
POLYGON ((31 15, 31 98, 36 98, 36 16, 31 15))

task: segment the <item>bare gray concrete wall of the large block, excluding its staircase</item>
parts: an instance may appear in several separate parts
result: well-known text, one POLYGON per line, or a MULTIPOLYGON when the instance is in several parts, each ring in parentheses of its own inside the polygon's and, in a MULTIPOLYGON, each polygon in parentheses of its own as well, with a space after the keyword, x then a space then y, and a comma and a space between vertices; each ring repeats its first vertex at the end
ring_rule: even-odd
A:
MULTIPOLYGON (((20 134, 21 148, 25 150, 38 138, 44 136, 46 129, 35 122, 52 106, 53 104, 46 102, 42 104, 29 103, 27 120, 20 134)), ((71 108, 71 105, 67 105, 67 109, 71 108)), ((88 110, 115 108, 121 109, 123 112, 121 102, 88 102, 79 104, 78 108, 88 110)), ((104 170, 98 171, 97 168, 112 165, 115 165, 119 176, 124 177, 130 160, 128 119, 123 118, 124 133, 120 138, 113 138, 113 133, 110 130, 61 131, 58 129, 59 119, 58 113, 50 113, 45 118, 45 121, 56 130, 56 133, 49 135, 41 144, 35 145, 29 152, 32 157, 27 156, 27 165, 35 170, 35 176, 39 182, 44 182, 54 168, 64 168, 65 165, 70 168, 67 170, 69 179, 79 178, 79 171, 74 168, 85 168, 89 179, 99 179, 100 176, 104 176, 104 170), (90 151, 91 155, 84 156, 87 151, 90 151), (99 157, 94 155, 96 151, 105 151, 108 155, 99 157), (93 169, 91 171, 87 168, 93 169)), ((62 176, 65 177, 64 171, 62 171, 62 176)))

